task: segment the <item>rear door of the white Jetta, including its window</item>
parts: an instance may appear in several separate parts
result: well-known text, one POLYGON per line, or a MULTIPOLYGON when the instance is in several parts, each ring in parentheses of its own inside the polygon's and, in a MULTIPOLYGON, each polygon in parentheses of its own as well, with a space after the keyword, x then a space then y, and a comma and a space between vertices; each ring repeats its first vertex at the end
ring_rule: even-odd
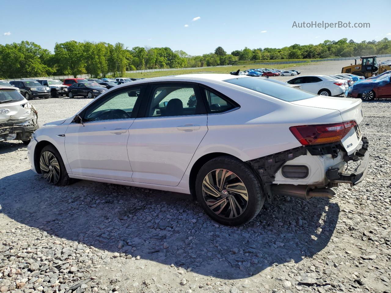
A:
POLYGON ((135 182, 176 186, 207 132, 199 87, 152 83, 143 115, 129 129, 128 155, 135 182), (195 95, 197 103, 188 105, 195 95))

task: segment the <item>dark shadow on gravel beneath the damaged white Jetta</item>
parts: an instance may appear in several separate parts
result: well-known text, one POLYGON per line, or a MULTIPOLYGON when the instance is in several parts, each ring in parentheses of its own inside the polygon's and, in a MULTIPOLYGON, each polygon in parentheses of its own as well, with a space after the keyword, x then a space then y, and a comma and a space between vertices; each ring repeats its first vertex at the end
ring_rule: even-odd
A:
POLYGON ((330 241, 340 212, 328 199, 281 197, 247 225, 226 227, 190 195, 84 180, 57 187, 30 170, 1 181, 1 212, 48 237, 223 279, 314 256, 330 241))

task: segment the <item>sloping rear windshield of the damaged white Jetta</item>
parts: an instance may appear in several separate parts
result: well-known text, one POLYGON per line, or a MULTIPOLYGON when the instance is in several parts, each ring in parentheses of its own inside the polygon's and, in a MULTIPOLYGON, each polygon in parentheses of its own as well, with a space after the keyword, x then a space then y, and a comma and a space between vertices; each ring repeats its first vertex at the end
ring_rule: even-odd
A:
POLYGON ((252 89, 258 93, 273 96, 273 98, 278 98, 286 102, 294 102, 316 96, 306 91, 291 88, 290 86, 268 82, 267 80, 253 77, 226 79, 224 81, 229 82, 230 84, 236 84, 237 86, 242 86, 243 88, 252 89))

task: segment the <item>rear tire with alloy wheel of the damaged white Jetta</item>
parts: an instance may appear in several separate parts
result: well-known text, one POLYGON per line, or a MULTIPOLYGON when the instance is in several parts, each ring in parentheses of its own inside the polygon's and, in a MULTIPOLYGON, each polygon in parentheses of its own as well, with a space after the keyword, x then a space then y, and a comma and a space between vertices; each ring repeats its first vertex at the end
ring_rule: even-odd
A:
MULTIPOLYGON (((228 226, 244 225, 250 222, 256 217, 265 202, 265 194, 261 182, 251 168, 242 161, 229 156, 214 158, 201 167, 195 180, 195 193, 205 213, 216 222, 228 226), (219 173, 214 173, 215 176, 213 176, 213 172, 217 172, 217 170, 219 170, 219 173), (227 173, 224 173, 225 171, 230 171, 233 174, 226 176, 227 173), (223 181, 220 184, 223 189, 219 189, 216 185, 216 177, 219 178, 219 175, 221 175, 220 178, 223 181), (223 177, 225 178, 224 180, 222 179, 223 177), (233 182, 233 184, 230 183, 224 186, 227 182, 233 182), (240 183, 235 184, 235 182, 240 183), (212 184, 214 189, 209 189, 208 192, 205 192, 208 184, 212 184), (239 184, 243 184, 243 187, 239 188, 239 184), (227 186, 229 185, 233 185, 236 188, 228 188, 227 186), (242 188, 247 193, 247 203, 245 196, 230 191, 244 191, 242 188), (218 193, 217 197, 212 195, 212 193, 215 195, 218 193), (234 200, 237 204, 236 207, 238 207, 235 209, 235 214, 233 214, 233 209, 231 209, 231 202, 234 203, 234 200), (219 201, 221 201, 221 204, 218 204, 219 201), (243 203, 245 203, 245 206, 243 203), (213 207, 216 204, 217 206, 213 207), (217 209, 219 210, 217 211, 217 209), (238 211, 241 213, 239 214, 238 211), (220 213, 220 215, 217 213, 220 213)), ((243 194, 246 193, 243 192, 243 194)))

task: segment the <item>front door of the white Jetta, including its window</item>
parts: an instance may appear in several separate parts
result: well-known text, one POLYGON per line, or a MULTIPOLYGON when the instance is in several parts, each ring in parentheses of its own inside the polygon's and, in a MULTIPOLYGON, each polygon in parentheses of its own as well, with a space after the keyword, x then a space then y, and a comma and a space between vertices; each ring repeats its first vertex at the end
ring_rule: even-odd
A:
POLYGON ((121 88, 101 96, 72 122, 65 133, 65 151, 72 174, 132 181, 127 141, 143 86, 121 88))

